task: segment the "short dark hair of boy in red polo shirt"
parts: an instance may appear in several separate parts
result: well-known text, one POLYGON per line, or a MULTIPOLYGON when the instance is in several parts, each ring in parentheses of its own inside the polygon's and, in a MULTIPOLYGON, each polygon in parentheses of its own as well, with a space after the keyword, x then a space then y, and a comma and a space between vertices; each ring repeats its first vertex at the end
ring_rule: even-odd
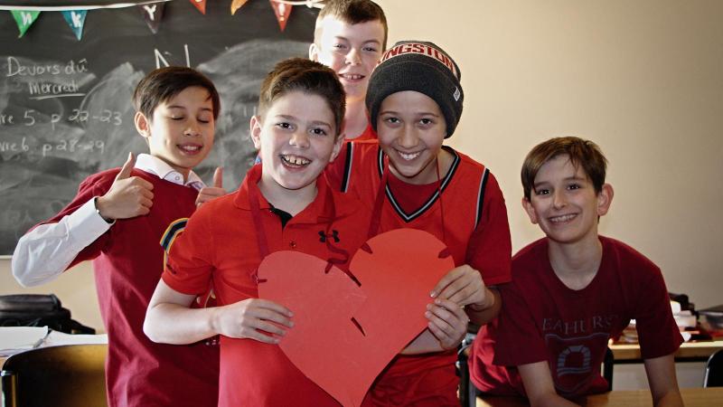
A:
POLYGON ((278 62, 274 71, 268 72, 261 84, 258 115, 263 117, 276 99, 293 91, 324 98, 333 113, 336 126, 334 136, 339 137, 346 110, 346 94, 336 72, 324 64, 305 58, 290 58, 278 62))

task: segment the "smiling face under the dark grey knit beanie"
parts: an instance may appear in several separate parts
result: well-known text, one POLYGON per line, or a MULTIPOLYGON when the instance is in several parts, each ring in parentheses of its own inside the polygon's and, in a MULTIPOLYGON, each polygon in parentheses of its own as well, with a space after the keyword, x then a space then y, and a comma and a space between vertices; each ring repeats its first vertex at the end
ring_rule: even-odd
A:
POLYGON ((390 170, 402 181, 414 185, 437 181, 437 156, 445 136, 445 116, 424 93, 403 90, 381 102, 377 137, 390 157, 390 170))

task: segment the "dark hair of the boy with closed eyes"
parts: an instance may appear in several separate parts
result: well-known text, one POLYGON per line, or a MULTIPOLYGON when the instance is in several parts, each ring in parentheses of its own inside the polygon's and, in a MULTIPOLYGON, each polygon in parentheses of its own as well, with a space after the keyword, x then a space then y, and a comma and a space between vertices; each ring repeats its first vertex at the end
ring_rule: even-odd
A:
POLYGON ((201 72, 181 66, 158 68, 148 73, 133 92, 133 106, 151 120, 158 105, 192 86, 208 90, 213 105, 213 120, 219 118, 221 98, 213 82, 201 72))

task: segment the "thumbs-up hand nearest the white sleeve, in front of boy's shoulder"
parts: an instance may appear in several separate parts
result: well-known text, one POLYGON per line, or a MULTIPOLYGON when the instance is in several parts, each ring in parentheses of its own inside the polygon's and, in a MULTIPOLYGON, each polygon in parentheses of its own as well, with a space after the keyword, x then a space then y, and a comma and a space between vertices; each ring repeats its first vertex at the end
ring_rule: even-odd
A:
POLYGON ((139 176, 130 176, 136 157, 128 154, 110 190, 96 202, 100 216, 106 220, 134 218, 151 212, 153 184, 139 176))

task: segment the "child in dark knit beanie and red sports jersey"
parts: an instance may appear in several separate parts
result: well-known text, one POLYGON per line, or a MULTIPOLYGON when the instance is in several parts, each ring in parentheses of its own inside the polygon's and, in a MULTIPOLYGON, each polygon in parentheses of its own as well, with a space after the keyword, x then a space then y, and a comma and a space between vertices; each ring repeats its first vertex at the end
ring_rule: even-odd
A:
MULTIPOLYGON (((460 77, 456 63, 434 43, 396 43, 371 74, 366 95, 379 144, 347 143, 327 175, 343 192, 381 204, 380 232, 414 228, 444 241, 457 267, 431 295, 464 307, 481 325, 499 312, 493 286, 510 280, 512 244, 494 176, 443 146, 462 114, 460 77)), ((380 375, 365 405, 458 405, 459 341, 444 345, 445 352, 406 355, 440 334, 430 324, 380 375)))

